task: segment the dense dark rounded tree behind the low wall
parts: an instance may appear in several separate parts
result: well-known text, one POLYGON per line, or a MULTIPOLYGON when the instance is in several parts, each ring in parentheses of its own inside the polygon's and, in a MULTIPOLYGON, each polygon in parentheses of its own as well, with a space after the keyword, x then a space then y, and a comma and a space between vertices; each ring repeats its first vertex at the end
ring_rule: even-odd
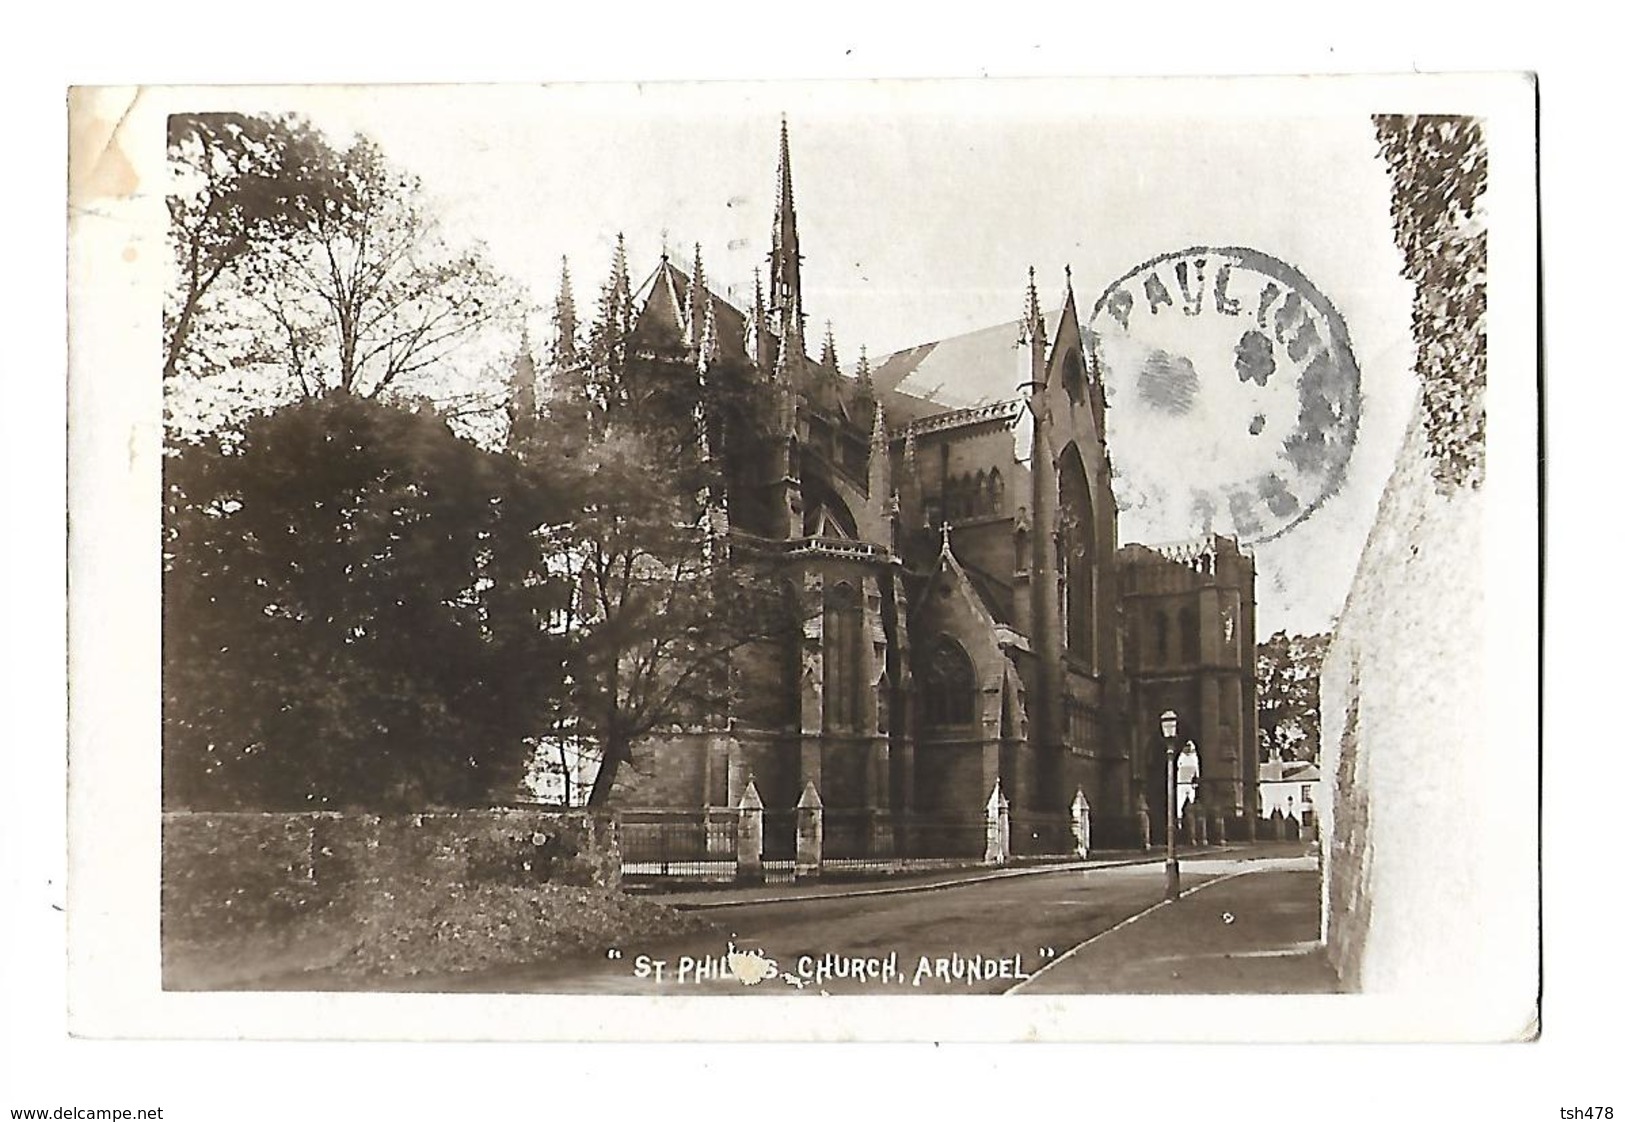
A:
POLYGON ((166 465, 164 800, 478 805, 562 691, 546 480, 333 394, 166 465))

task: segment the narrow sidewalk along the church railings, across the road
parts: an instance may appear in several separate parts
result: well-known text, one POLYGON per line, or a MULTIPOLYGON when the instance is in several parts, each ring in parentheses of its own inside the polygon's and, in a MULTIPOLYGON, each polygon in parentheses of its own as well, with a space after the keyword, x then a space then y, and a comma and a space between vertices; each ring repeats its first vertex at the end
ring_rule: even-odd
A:
MULTIPOLYGON (((1204 857, 1266 857, 1280 850, 1284 842, 1246 842, 1233 846, 1211 846, 1198 850, 1185 850, 1181 860, 1202 860, 1204 857)), ((1302 852, 1295 842, 1294 852, 1302 852)), ((895 896, 899 893, 925 893, 936 888, 954 888, 957 885, 975 885, 1004 876, 1035 876, 1040 873, 1077 872, 1090 868, 1120 868, 1123 865, 1162 863, 1162 850, 1142 852, 1139 849, 1098 850, 1086 860, 1050 860, 1032 865, 1008 865, 1004 868, 988 865, 965 865, 960 868, 939 868, 918 873, 894 873, 868 878, 830 878, 814 881, 793 881, 782 885, 720 885, 696 888, 640 888, 632 889, 639 896, 660 901, 681 911, 707 907, 736 907, 741 904, 780 904, 809 899, 845 899, 855 896, 895 896)))

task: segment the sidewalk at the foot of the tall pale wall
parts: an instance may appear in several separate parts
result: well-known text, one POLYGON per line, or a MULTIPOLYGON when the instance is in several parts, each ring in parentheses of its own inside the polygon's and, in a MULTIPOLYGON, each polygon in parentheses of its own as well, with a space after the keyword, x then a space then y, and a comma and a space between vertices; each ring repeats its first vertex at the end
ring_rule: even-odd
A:
POLYGON ((1012 994, 1336 994, 1313 857, 1188 889, 1055 959, 1012 994))

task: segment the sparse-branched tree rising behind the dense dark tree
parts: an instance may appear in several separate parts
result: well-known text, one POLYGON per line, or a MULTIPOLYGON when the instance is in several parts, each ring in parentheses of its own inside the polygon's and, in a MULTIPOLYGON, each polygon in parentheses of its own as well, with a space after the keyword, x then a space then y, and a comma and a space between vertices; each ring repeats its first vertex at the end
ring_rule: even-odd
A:
POLYGON ((447 236, 418 177, 292 119, 171 124, 166 369, 198 376, 169 385, 174 428, 330 392, 497 421, 494 358, 520 301, 483 246, 447 236), (228 371, 221 392, 208 379, 228 371))

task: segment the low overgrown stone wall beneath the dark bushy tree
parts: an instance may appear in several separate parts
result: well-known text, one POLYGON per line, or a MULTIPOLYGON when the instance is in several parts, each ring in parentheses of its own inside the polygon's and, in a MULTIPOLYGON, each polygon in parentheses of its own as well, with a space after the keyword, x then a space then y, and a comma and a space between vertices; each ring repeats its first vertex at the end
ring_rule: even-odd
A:
POLYGON ((164 815, 164 935, 275 927, 406 880, 447 885, 621 883, 611 816, 465 810, 427 815, 164 815))

